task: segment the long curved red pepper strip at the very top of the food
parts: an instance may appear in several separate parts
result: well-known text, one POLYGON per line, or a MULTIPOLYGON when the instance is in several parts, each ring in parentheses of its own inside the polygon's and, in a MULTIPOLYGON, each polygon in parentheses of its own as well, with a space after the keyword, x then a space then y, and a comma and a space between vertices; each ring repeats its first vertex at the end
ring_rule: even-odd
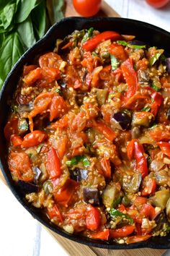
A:
POLYGON ((122 36, 120 34, 116 33, 115 31, 105 31, 105 32, 102 32, 102 33, 94 36, 94 38, 87 40, 83 44, 82 48, 85 51, 94 51, 94 49, 97 47, 97 45, 99 43, 102 43, 102 41, 104 41, 104 40, 108 40, 108 39, 119 40, 121 38, 122 38, 122 36))

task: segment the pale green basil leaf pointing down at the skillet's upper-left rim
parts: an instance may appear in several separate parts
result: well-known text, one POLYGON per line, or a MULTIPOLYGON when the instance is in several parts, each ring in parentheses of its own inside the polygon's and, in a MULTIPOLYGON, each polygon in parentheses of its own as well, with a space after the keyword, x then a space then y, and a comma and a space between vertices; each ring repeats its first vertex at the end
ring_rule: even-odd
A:
POLYGON ((30 16, 24 22, 19 23, 17 32, 27 48, 30 48, 36 42, 30 16))

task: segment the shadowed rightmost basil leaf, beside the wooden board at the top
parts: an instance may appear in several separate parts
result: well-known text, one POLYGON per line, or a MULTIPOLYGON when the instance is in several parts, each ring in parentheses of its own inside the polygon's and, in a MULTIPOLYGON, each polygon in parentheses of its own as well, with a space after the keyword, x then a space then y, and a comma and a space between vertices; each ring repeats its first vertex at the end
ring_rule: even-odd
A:
POLYGON ((64 17, 63 0, 48 0, 46 1, 46 7, 48 9, 48 17, 50 23, 53 25, 56 21, 61 20, 64 17))

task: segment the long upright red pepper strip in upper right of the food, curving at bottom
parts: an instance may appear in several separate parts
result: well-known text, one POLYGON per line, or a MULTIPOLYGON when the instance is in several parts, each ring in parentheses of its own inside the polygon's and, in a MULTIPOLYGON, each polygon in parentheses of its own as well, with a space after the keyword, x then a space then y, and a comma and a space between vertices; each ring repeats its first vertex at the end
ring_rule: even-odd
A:
POLYGON ((128 91, 125 93, 125 98, 129 99, 135 95, 138 90, 138 77, 133 68, 132 59, 127 59, 121 64, 122 74, 128 84, 128 91))

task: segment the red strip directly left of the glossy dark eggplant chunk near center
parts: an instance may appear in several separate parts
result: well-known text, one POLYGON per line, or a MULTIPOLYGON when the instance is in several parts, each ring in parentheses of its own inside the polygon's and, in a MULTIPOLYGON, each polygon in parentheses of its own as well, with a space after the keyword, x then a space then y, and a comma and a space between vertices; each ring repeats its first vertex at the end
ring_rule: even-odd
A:
POLYGON ((94 124, 94 129, 96 129, 98 132, 101 132, 104 137, 107 138, 107 140, 115 140, 115 132, 111 128, 107 127, 107 125, 102 121, 97 121, 96 124, 94 124))

